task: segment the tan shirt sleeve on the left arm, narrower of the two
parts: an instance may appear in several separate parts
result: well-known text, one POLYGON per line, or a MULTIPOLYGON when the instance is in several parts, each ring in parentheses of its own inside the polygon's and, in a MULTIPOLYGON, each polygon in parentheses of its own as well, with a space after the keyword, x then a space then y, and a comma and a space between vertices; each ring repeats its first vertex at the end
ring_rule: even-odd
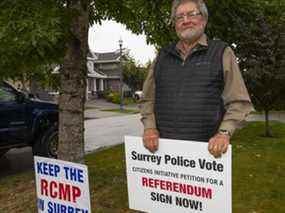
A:
POLYGON ((144 129, 156 129, 155 115, 154 115, 154 101, 155 101, 155 79, 154 67, 156 59, 151 64, 148 75, 143 85, 143 95, 140 102, 141 121, 144 129))

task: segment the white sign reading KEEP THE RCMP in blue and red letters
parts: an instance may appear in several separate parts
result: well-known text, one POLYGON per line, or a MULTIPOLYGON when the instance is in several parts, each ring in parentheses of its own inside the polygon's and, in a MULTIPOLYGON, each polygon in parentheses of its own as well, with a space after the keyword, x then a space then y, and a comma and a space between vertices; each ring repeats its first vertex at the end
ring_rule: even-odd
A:
POLYGON ((87 166, 34 157, 38 212, 90 213, 87 166))

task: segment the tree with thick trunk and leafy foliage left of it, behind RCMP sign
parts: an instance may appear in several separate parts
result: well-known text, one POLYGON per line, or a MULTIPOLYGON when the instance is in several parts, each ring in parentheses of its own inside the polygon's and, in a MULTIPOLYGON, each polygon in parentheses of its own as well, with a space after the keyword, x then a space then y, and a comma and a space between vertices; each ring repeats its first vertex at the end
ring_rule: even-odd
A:
POLYGON ((59 153, 82 162, 89 0, 5 0, 0 3, 0 76, 27 78, 43 67, 60 72, 59 153))

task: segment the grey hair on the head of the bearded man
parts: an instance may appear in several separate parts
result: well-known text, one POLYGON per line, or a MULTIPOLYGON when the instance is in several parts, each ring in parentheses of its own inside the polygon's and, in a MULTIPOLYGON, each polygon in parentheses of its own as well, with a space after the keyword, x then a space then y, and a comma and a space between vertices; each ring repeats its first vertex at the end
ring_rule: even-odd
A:
POLYGON ((194 4, 197 5, 197 9, 201 12, 202 16, 208 21, 208 9, 203 0, 174 0, 172 2, 172 8, 171 8, 171 22, 175 23, 175 15, 176 15, 176 10, 177 7, 180 6, 181 4, 184 4, 186 2, 193 2, 194 4))

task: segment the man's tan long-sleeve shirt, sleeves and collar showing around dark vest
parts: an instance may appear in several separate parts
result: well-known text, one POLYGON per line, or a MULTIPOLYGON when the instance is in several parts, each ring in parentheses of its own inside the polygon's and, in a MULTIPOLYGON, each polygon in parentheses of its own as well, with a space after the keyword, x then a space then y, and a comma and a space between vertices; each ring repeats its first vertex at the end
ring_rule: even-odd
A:
MULTIPOLYGON (((206 35, 203 35, 197 45, 208 45, 206 35)), ((182 58, 186 58, 189 52, 185 52, 178 42, 176 48, 182 58)), ((195 49, 195 47, 193 48, 195 49)), ((141 100, 141 121, 144 129, 156 128, 154 114, 155 103, 155 79, 154 67, 156 60, 152 63, 148 76, 143 86, 143 97, 141 100)), ((223 54, 224 68, 224 91, 222 98, 226 113, 219 129, 227 130, 232 135, 237 127, 245 120, 246 116, 253 111, 253 106, 245 87, 236 56, 230 47, 227 47, 223 54)))

